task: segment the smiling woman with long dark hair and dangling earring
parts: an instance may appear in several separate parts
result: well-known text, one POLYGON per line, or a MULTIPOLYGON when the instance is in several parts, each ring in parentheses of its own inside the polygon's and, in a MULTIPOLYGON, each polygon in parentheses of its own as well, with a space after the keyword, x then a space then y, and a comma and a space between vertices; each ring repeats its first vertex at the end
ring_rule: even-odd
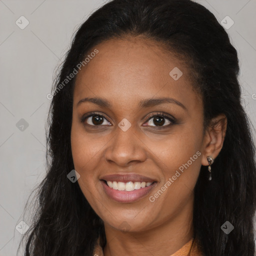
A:
POLYGON ((49 95, 48 172, 25 255, 252 256, 255 147, 238 72, 198 3, 96 10, 49 95))

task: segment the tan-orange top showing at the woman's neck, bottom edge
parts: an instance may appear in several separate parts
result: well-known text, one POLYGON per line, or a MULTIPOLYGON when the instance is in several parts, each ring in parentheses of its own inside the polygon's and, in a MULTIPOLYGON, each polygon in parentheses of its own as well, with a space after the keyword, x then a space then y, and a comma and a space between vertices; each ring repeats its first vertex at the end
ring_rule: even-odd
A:
MULTIPOLYGON (((99 243, 97 243, 97 245, 94 247, 93 255, 104 256, 102 247, 99 245, 99 243)), ((199 248, 198 241, 192 238, 170 256, 203 256, 203 254, 199 248)))

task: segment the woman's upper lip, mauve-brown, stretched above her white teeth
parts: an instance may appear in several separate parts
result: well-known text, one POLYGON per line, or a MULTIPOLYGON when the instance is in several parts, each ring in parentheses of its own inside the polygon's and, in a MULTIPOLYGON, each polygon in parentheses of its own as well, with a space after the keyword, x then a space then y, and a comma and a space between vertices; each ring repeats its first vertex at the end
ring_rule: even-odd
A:
POLYGON ((135 181, 139 181, 139 182, 154 182, 156 180, 150 178, 150 177, 146 177, 143 175, 139 175, 136 173, 122 173, 122 174, 109 174, 109 175, 104 175, 102 177, 100 177, 100 179, 106 180, 106 181, 120 181, 120 182, 135 182, 135 181))

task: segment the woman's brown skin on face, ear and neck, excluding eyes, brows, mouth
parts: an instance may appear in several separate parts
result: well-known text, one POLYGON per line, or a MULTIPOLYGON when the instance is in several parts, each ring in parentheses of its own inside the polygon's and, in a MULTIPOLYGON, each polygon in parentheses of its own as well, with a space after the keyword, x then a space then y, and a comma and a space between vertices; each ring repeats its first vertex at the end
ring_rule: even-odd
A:
POLYGON ((192 89, 187 67, 155 42, 129 37, 110 39, 94 48, 99 52, 79 71, 75 81, 71 149, 75 170, 80 174, 79 186, 104 222, 107 243, 103 253, 171 255, 193 236, 193 189, 201 164, 208 165, 206 156, 215 158, 221 150, 226 118, 217 116, 212 120, 217 121, 214 129, 209 126, 203 132, 202 101, 192 89), (174 67, 183 73, 178 80, 169 75, 174 67), (77 106, 84 97, 104 98, 111 106, 92 102, 77 106), (174 98, 186 109, 168 102, 138 106, 142 99, 158 97, 174 98), (82 123, 80 118, 92 111, 106 119, 101 124, 94 121, 94 126, 92 117, 82 123), (154 118, 148 119, 149 113, 157 112, 174 116, 176 124, 165 118, 160 124, 165 128, 157 129, 154 118), (123 118, 131 124, 126 131, 118 126, 123 118), (150 202, 149 196, 197 151, 200 156, 150 202), (109 198, 99 178, 130 172, 154 178, 157 184, 134 202, 109 198), (126 222, 128 227, 123 231, 121 227, 126 222))

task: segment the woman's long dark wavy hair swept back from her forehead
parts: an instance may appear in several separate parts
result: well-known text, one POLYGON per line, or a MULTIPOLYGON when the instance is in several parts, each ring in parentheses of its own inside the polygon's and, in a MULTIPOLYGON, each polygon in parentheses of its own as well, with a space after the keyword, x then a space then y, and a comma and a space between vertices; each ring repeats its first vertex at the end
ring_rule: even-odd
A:
POLYGON ((206 166, 201 166, 194 188, 194 233, 204 255, 253 256, 255 145, 241 105, 237 52, 214 15, 190 0, 112 0, 76 31, 52 87, 47 175, 38 186, 25 256, 92 255, 98 236, 102 246, 106 242, 102 220, 78 183, 66 176, 74 169, 70 129, 75 77, 61 89, 58 86, 97 43, 128 35, 160 42, 186 59, 203 99, 204 126, 216 115, 226 115, 226 135, 212 164, 212 180, 207 180, 206 166), (229 234, 220 228, 225 221, 234 226, 229 234))

